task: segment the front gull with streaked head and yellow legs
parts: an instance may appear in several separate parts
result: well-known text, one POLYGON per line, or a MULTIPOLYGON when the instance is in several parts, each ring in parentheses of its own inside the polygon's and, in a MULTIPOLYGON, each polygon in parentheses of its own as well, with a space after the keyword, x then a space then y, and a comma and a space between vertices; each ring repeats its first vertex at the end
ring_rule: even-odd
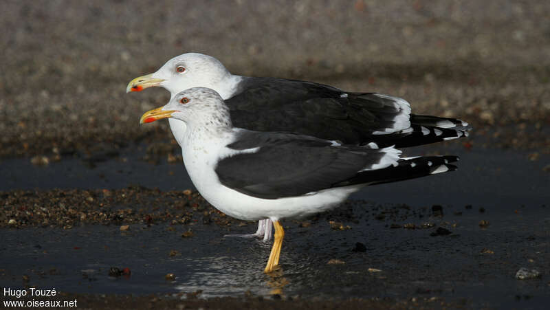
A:
POLYGON ((399 158, 394 146, 358 146, 310 135, 262 132, 232 124, 232 111, 212 89, 194 87, 142 115, 169 118, 187 173, 212 206, 242 220, 270 219, 274 243, 264 272, 279 263, 285 232, 279 221, 335 208, 365 186, 455 170, 456 156, 399 158))

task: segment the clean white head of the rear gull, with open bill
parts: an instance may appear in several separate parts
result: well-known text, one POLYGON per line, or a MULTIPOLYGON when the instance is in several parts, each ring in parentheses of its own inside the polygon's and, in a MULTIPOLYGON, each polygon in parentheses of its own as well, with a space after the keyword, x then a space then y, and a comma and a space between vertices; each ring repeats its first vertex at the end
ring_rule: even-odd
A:
POLYGON ((219 82, 230 76, 229 71, 216 58, 187 53, 168 60, 152 74, 134 78, 126 87, 126 93, 158 86, 170 91, 173 97, 176 93, 192 87, 215 89, 219 82))

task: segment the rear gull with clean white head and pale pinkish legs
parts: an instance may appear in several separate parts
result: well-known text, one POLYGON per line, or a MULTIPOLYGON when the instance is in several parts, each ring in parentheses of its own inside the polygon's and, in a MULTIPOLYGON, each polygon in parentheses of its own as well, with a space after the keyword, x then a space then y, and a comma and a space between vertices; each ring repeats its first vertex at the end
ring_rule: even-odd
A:
MULTIPOLYGON (((192 87, 217 91, 231 111, 234 126, 252 131, 281 131, 334 140, 340 144, 404 148, 468 135, 467 122, 412 114, 404 99, 380 93, 342 91, 303 80, 231 74, 216 58, 187 53, 168 60, 153 74, 134 78, 126 92, 164 87, 173 98, 192 87)), ((185 123, 168 120, 181 146, 185 123)), ((250 235, 271 239, 269 220, 250 235)))

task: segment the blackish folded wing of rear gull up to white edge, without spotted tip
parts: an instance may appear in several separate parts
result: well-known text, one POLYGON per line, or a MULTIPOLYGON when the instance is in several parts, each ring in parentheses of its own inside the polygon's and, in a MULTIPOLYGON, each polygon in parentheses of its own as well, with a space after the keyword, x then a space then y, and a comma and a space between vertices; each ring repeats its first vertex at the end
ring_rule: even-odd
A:
POLYGON ((294 132, 344 144, 366 144, 373 141, 374 132, 407 128, 410 113, 408 103, 404 106, 388 96, 345 93, 282 78, 245 78, 225 102, 236 127, 294 132))

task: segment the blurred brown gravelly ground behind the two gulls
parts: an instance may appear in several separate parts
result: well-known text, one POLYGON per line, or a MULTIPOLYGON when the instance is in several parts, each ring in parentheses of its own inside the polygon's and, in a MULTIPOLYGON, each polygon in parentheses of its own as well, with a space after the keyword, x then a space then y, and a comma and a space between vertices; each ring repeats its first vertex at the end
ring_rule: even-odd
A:
POLYGON ((168 92, 125 87, 186 52, 550 145, 548 1, 2 1, 0 25, 2 157, 170 141, 167 122, 138 125, 168 92))

